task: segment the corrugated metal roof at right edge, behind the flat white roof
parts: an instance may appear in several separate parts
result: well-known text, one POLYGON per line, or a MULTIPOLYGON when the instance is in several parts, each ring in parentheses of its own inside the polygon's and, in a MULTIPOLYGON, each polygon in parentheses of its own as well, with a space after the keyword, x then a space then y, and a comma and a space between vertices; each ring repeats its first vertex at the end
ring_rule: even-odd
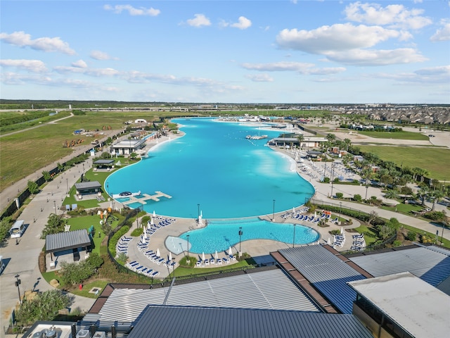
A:
POLYGON ((439 251, 435 248, 413 247, 349 259, 375 277, 409 271, 436 287, 450 276, 450 256, 448 251, 439 251))

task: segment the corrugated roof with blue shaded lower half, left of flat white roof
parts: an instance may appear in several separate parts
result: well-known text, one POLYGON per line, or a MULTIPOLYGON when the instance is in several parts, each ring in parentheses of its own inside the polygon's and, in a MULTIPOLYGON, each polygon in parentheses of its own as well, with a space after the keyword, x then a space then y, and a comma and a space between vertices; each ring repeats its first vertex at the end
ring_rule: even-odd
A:
POLYGON ((347 282, 364 280, 347 263, 321 245, 278 250, 342 313, 352 313, 356 292, 347 282))

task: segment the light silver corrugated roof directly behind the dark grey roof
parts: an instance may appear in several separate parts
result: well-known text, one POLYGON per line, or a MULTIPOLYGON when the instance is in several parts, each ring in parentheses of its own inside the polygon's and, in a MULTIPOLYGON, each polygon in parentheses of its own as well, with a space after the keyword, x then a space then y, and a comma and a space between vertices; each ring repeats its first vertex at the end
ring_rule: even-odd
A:
MULTIPOLYGON (((133 321, 148 304, 162 304, 168 290, 115 289, 98 313, 101 320, 133 321)), ((174 285, 167 304, 319 312, 279 269, 174 285)))

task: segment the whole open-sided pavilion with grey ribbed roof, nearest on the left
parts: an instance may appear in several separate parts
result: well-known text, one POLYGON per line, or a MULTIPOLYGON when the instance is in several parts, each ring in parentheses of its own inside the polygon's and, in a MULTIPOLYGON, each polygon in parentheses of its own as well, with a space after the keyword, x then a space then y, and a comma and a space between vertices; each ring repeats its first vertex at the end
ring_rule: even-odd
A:
POLYGON ((46 265, 50 270, 56 268, 56 263, 75 262, 87 258, 91 251, 91 237, 86 229, 47 234, 45 237, 46 265), (83 255, 84 253, 84 255, 83 255))

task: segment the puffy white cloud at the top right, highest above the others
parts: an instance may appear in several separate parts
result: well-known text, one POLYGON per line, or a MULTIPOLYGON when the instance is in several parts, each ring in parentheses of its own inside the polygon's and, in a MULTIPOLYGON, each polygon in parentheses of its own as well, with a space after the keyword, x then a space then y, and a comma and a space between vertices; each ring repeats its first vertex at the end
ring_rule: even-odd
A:
POLYGON ((369 25, 388 25, 389 27, 402 27, 404 29, 418 30, 432 24, 430 18, 421 16, 422 9, 413 8, 411 10, 403 5, 361 4, 355 2, 345 8, 347 20, 357 23, 367 23, 369 25))

